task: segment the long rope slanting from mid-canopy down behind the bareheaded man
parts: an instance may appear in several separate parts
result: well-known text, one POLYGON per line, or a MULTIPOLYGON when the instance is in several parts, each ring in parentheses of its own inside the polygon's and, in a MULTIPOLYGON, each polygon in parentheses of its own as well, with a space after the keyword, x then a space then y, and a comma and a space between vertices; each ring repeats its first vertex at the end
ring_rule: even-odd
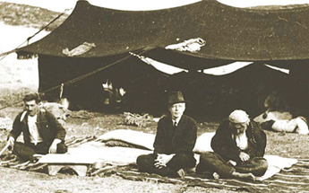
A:
MULTIPOLYGON (((141 51, 140 53, 138 53, 137 55, 142 55, 143 53, 145 53, 146 51, 149 51, 149 50, 151 50, 151 49, 153 49, 153 48, 152 48, 152 47, 151 47, 151 48, 142 48, 142 51, 141 51)), ((109 64, 109 65, 107 65, 107 66, 100 67, 99 69, 94 70, 94 71, 92 71, 92 72, 90 72, 90 73, 87 73, 87 74, 85 74, 85 75, 80 75, 80 76, 78 76, 78 77, 76 77, 76 78, 73 78, 73 79, 71 79, 71 80, 69 80, 69 81, 67 81, 67 82, 65 82, 65 83, 61 83, 61 84, 56 85, 56 86, 54 86, 54 87, 52 87, 52 88, 50 88, 50 89, 47 89, 46 91, 39 92, 39 93, 40 93, 40 94, 43 94, 43 93, 50 92, 50 91, 53 91, 53 90, 55 90, 55 89, 61 88, 61 87, 63 87, 64 85, 70 85, 70 84, 72 84, 72 83, 79 82, 79 81, 81 81, 82 79, 89 77, 90 75, 94 75, 94 74, 96 74, 96 73, 98 73, 98 72, 100 72, 100 71, 102 71, 102 70, 107 69, 107 68, 110 67, 110 66, 114 66, 114 65, 116 65, 116 64, 118 64, 118 63, 124 61, 125 59, 127 59, 127 58, 129 58, 129 57, 133 57, 133 55, 132 55, 131 53, 132 53, 132 52, 130 52, 130 54, 129 54, 128 56, 123 57, 123 58, 117 60, 116 62, 113 62, 113 63, 111 63, 111 64, 109 64)), ((16 104, 18 104, 18 103, 20 103, 20 102, 21 102, 21 101, 16 101, 16 102, 14 102, 14 103, 11 104, 11 105, 5 105, 4 107, 0 108, 0 110, 4 110, 4 109, 6 109, 6 108, 8 108, 8 107, 12 107, 13 105, 16 105, 16 104)))

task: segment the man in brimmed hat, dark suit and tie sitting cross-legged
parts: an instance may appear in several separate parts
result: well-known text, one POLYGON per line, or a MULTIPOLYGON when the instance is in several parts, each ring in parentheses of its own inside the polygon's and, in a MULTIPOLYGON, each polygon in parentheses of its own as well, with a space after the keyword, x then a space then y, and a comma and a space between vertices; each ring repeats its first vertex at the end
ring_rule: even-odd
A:
POLYGON ((136 162, 140 171, 183 178, 184 169, 195 166, 193 147, 197 125, 193 118, 184 115, 185 99, 182 92, 172 92, 168 96, 168 111, 170 115, 159 120, 154 153, 140 155, 136 162))

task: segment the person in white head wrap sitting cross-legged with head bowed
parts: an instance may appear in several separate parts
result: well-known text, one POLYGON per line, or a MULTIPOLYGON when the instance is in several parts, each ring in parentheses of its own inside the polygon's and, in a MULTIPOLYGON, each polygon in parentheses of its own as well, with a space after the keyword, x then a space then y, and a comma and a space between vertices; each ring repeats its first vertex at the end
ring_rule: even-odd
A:
POLYGON ((214 152, 200 157, 196 172, 219 178, 255 180, 267 171, 268 163, 262 158, 266 135, 258 124, 250 120, 244 110, 234 110, 219 125, 211 139, 214 152))

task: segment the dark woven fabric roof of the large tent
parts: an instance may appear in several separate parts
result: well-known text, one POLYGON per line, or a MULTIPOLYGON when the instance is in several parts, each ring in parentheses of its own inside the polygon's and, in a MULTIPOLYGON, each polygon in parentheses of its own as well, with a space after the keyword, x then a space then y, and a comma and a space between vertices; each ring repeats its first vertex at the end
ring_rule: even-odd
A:
MULTIPOLYGON (((307 59, 308 18, 309 7, 255 10, 204 0, 156 11, 120 11, 78 1, 61 26, 17 53, 66 57, 64 48, 88 42, 95 47, 76 57, 105 57, 202 39, 206 44, 200 51, 181 53, 230 61, 307 59)), ((150 57, 158 55, 151 50, 150 57)))

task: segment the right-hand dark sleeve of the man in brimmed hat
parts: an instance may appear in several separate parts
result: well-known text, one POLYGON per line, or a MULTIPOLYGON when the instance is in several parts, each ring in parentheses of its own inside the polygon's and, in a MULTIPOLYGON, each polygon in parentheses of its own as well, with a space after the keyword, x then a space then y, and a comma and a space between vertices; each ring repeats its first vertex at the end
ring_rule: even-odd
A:
POLYGON ((193 148, 197 138, 197 124, 195 120, 189 119, 189 124, 186 126, 184 141, 177 148, 176 153, 193 154, 193 148))

